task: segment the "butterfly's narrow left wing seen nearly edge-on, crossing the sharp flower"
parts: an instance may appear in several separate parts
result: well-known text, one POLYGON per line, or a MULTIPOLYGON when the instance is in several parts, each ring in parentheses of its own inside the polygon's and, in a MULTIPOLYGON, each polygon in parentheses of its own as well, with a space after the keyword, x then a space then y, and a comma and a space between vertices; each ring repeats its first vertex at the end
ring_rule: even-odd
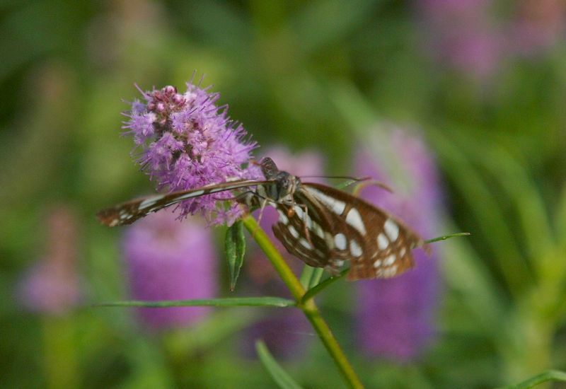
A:
POLYGON ((156 194, 154 196, 141 197, 118 204, 115 207, 103 209, 96 216, 100 222, 106 226, 122 226, 123 224, 134 223, 137 219, 156 212, 173 204, 178 204, 192 197, 203 196, 225 190, 234 190, 242 187, 253 187, 269 183, 270 181, 257 180, 234 180, 229 182, 221 182, 219 184, 207 185, 192 190, 182 190, 167 194, 156 194))

